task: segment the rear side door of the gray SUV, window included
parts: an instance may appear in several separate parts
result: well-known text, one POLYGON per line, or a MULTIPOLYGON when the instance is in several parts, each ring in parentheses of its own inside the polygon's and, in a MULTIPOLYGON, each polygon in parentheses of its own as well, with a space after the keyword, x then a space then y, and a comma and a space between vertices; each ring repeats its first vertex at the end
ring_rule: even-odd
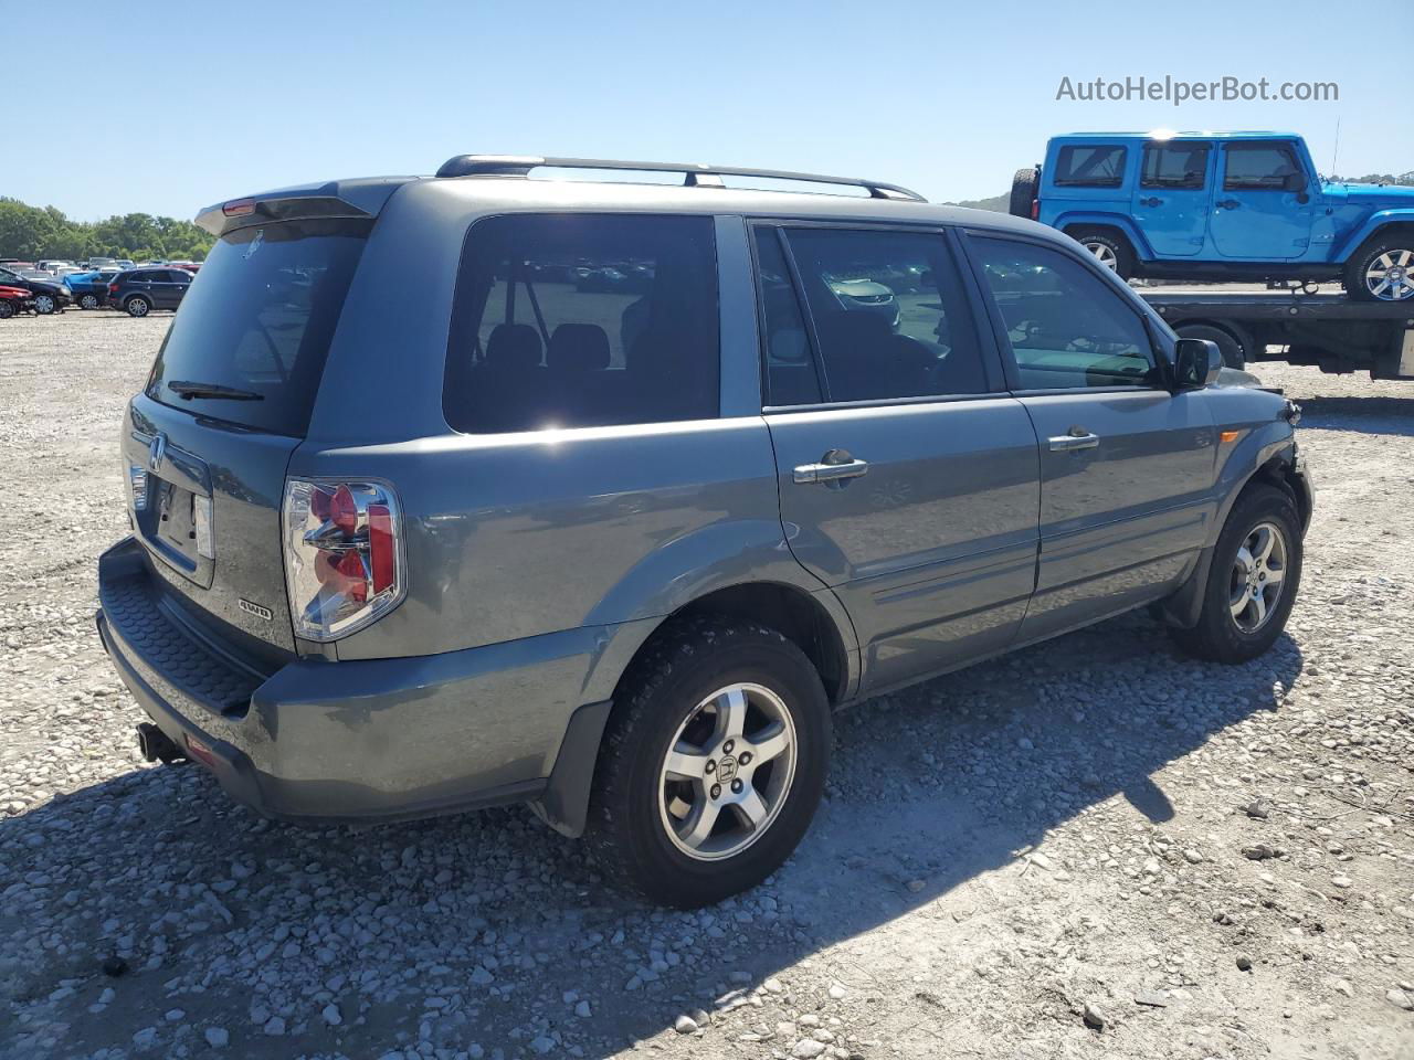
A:
POLYGON ((854 622, 863 688, 1005 649, 1039 465, 942 230, 754 226, 766 423, 796 558, 854 622))

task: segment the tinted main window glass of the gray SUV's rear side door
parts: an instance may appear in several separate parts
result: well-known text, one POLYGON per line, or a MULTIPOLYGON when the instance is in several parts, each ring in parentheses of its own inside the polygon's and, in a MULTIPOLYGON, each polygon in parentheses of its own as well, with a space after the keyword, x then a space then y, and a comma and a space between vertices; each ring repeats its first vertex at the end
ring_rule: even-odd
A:
POLYGON ((987 391, 947 243, 925 232, 788 230, 826 400, 987 391))

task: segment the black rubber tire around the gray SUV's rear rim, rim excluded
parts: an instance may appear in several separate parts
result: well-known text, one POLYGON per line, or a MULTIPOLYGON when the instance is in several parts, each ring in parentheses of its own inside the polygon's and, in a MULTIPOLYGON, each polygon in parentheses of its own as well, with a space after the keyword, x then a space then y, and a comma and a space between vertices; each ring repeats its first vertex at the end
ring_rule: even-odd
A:
POLYGON ((830 734, 820 676, 795 643, 754 622, 677 620, 625 674, 600 748, 585 830, 600 871, 619 889, 676 909, 755 886, 790 856, 810 825, 824 791, 830 734), (697 705, 734 683, 769 688, 788 707, 795 773, 779 811, 749 845, 718 861, 699 861, 669 838, 659 804, 660 770, 669 743, 697 705))

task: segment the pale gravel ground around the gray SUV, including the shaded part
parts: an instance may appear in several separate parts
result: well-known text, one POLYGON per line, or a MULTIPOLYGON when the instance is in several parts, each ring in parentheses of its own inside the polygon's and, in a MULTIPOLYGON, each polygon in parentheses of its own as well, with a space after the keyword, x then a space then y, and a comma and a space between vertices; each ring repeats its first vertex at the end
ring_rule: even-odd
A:
POLYGON ((139 759, 93 579, 165 326, 0 324, 0 1056, 1414 1056, 1414 384, 1261 367, 1319 490, 1267 657, 1128 616, 868 702, 796 858, 662 913, 519 808, 300 830, 139 759))

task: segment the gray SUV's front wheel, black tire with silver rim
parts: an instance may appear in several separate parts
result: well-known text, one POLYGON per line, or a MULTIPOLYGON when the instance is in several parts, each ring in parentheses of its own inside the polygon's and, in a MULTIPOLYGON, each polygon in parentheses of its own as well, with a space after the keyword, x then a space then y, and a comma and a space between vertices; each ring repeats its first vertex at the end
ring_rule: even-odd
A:
MULTIPOLYGON (((1229 664, 1256 659, 1275 643, 1287 625, 1287 618, 1291 615, 1297 592, 1301 588, 1301 519, 1291 495, 1275 486, 1249 486, 1237 497, 1237 503, 1217 537, 1198 625, 1192 629, 1169 629, 1169 633, 1179 647, 1196 659, 1229 664), (1256 629, 1247 629, 1244 626, 1251 625, 1257 611, 1253 603, 1244 603, 1244 609, 1236 613, 1239 605, 1234 601, 1240 595, 1237 589, 1249 584, 1241 578, 1239 557, 1243 550, 1249 550, 1249 555, 1257 551, 1256 547, 1249 546, 1254 538, 1260 541, 1263 527, 1275 529, 1281 538, 1277 541, 1277 547, 1268 553, 1267 574, 1251 582, 1264 594, 1266 618, 1256 629), (1275 596, 1268 599, 1271 594, 1268 578, 1277 570, 1273 564, 1278 547, 1281 550, 1281 582, 1275 596)), ((1249 565, 1247 570, 1250 571, 1251 567, 1249 565)))

